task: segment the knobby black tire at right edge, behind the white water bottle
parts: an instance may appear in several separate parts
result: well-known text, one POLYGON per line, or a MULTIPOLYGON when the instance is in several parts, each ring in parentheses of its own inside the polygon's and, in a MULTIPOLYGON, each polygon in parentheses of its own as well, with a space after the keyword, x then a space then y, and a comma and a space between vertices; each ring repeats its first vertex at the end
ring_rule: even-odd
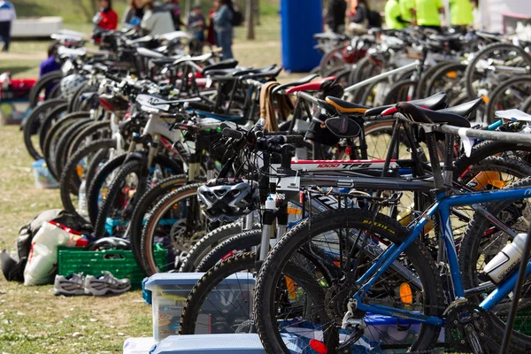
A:
MULTIPOLYGON (((518 181, 511 186, 512 188, 529 188, 531 187, 531 179, 518 181)), ((485 204, 496 215, 498 212, 502 212, 509 205, 512 205, 514 201, 496 202, 485 204)), ((479 257, 478 250, 481 245, 481 239, 485 235, 486 228, 491 225, 487 219, 474 214, 473 219, 470 221, 469 227, 466 230, 466 234, 461 242, 461 248, 459 250, 459 266, 462 274, 464 289, 472 289, 478 284, 478 269, 476 268, 477 259, 479 257)), ((526 227, 527 228, 527 227, 526 227)), ((474 296, 469 298, 469 301, 473 301, 474 304, 479 304, 480 297, 474 296)), ((500 344, 504 338, 505 325, 504 322, 497 318, 496 314, 489 312, 492 319, 490 335, 492 340, 486 343, 486 346, 490 352, 499 352, 500 344)), ((511 353, 527 353, 531 350, 531 336, 523 335, 519 332, 513 331, 511 342, 509 344, 509 352, 511 353)))

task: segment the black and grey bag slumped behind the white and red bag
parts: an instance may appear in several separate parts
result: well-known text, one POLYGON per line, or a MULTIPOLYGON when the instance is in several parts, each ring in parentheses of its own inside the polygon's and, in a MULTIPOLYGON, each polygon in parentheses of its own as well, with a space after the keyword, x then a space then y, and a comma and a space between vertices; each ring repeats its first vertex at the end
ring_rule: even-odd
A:
POLYGON ((42 224, 48 221, 56 221, 59 224, 71 227, 73 230, 80 232, 92 232, 92 227, 85 220, 69 214, 64 210, 50 209, 46 212, 41 212, 29 224, 20 228, 19 237, 17 238, 17 254, 19 259, 12 258, 7 250, 4 250, 0 256, 2 273, 4 273, 7 281, 24 282, 24 268, 26 267, 27 257, 31 250, 31 242, 42 227, 42 224))

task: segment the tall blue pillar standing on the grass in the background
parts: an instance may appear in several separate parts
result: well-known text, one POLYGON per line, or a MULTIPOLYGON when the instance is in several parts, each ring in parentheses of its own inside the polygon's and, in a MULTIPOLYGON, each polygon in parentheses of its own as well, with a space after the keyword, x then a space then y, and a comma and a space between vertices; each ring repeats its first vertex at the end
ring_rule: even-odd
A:
POLYGON ((323 32, 322 0, 281 0, 282 66, 295 73, 311 71, 321 54, 313 35, 323 32))

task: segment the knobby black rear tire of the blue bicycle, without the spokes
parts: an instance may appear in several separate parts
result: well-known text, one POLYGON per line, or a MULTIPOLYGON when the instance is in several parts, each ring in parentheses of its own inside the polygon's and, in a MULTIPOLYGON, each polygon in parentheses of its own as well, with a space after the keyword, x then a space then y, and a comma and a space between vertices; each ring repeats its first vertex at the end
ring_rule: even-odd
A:
MULTIPOLYGON (((395 219, 381 214, 374 216, 372 212, 363 209, 339 209, 319 213, 312 218, 311 223, 309 219, 302 221, 290 229, 274 245, 258 273, 255 288, 255 324, 266 352, 290 352, 281 340, 274 315, 275 310, 273 310, 276 308, 274 305, 275 287, 281 276, 282 267, 288 264, 289 258, 295 255, 304 242, 307 242, 312 236, 320 235, 327 230, 342 228, 345 225, 349 225, 351 228, 366 229, 367 222, 372 225, 372 232, 385 237, 391 243, 401 243, 409 235, 407 228, 400 225, 395 219)), ((443 286, 437 276, 438 271, 434 259, 431 258, 429 251, 419 240, 413 242, 404 252, 419 276, 424 295, 422 305, 426 309, 425 313, 440 316, 443 313, 442 308, 440 308, 440 305, 443 304, 441 298, 443 286)), ((410 350, 432 350, 440 330, 441 327, 421 325, 410 350)))

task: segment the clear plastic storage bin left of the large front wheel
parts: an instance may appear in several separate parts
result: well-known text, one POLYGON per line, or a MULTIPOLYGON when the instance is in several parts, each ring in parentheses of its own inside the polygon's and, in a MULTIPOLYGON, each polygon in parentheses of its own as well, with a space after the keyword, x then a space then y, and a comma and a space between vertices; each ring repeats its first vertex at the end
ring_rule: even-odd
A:
MULTIPOLYGON (((182 308, 190 291, 203 275, 204 273, 157 273, 145 281, 144 289, 151 292, 153 337, 156 341, 179 334, 182 308)), ((196 335, 232 333, 234 330, 229 332, 230 327, 249 321, 254 286, 252 273, 235 273, 220 283, 216 291, 212 291, 204 301, 197 318, 196 335), (229 304, 227 299, 234 296, 244 299, 242 304, 249 306, 248 312, 231 311, 234 302, 229 304), (216 319, 220 313, 223 314, 223 325, 219 325, 219 319, 216 319)))

